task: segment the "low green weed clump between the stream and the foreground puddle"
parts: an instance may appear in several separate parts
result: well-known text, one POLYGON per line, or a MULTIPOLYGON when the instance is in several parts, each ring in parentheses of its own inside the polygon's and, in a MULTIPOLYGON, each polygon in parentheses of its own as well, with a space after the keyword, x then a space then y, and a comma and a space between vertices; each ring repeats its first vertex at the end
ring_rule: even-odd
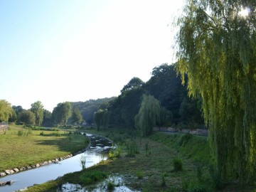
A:
POLYGON ((80 183, 83 186, 87 186, 104 178, 107 178, 107 174, 102 171, 86 171, 80 176, 80 183))

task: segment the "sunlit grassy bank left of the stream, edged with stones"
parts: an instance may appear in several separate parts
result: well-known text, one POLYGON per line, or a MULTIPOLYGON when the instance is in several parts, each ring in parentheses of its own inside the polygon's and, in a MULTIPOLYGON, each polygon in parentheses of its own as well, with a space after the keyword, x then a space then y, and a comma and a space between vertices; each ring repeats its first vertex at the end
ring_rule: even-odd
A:
POLYGON ((0 132, 0 171, 29 166, 68 155, 87 145, 80 134, 55 129, 32 130, 10 125, 0 132))

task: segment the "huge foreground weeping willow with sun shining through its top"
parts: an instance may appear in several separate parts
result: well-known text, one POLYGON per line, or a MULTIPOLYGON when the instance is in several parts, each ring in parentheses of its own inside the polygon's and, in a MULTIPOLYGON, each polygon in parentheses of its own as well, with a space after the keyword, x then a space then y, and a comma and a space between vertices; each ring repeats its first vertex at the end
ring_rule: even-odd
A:
POLYGON ((188 75, 189 95, 203 98, 216 169, 242 183, 256 178, 255 7, 255 0, 188 0, 177 22, 177 71, 183 82, 188 75))

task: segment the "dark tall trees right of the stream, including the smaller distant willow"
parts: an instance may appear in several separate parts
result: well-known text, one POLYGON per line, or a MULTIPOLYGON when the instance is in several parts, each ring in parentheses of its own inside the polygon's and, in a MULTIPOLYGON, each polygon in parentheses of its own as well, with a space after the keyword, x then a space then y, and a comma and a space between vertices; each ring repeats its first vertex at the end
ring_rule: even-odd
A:
POLYGON ((147 82, 136 77, 129 80, 118 97, 95 112, 97 129, 139 129, 146 136, 154 126, 203 127, 201 99, 188 97, 187 85, 182 85, 175 68, 176 64, 164 63, 152 70, 147 82), (142 130, 145 127, 149 130, 142 130))

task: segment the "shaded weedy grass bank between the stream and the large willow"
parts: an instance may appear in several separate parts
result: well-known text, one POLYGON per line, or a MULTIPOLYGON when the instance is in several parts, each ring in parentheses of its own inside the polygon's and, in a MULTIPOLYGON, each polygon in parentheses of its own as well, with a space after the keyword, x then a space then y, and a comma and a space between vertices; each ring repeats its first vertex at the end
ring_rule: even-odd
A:
POLYGON ((253 191, 252 187, 235 183, 220 185, 211 166, 213 160, 206 137, 155 133, 139 138, 134 137, 134 132, 124 130, 96 133, 119 143, 118 158, 33 186, 28 192, 56 191, 67 182, 87 186, 92 177, 102 179, 112 174, 121 174, 126 186, 139 191, 253 191))

